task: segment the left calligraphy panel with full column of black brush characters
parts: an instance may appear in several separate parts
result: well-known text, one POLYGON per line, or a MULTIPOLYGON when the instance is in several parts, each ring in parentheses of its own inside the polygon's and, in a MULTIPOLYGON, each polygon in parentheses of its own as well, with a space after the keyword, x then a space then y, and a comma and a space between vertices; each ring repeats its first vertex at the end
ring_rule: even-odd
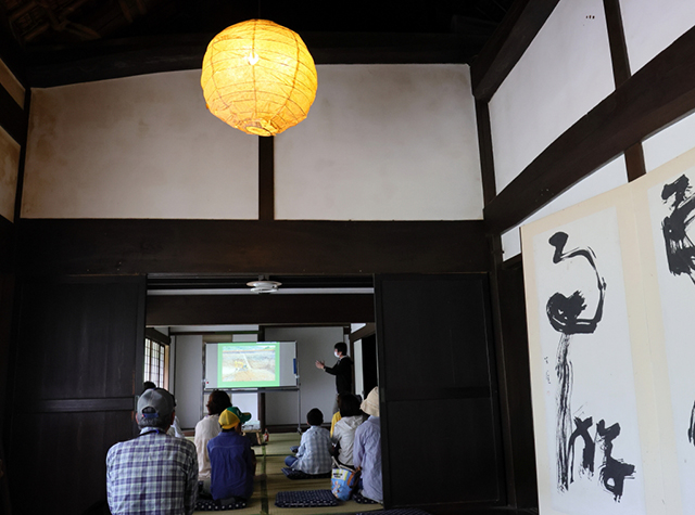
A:
POLYGON ((541 513, 665 513, 631 192, 521 235, 541 513))

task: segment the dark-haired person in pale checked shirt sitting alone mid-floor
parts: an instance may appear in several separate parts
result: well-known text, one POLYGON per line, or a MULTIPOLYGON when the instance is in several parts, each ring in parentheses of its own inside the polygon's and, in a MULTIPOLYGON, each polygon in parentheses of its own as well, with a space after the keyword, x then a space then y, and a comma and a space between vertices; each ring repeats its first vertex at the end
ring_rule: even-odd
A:
POLYGON ((330 450, 332 443, 328 429, 324 429, 324 413, 318 408, 309 410, 306 414, 309 428, 302 435, 296 456, 287 456, 285 464, 293 471, 304 474, 327 474, 332 468, 330 450))

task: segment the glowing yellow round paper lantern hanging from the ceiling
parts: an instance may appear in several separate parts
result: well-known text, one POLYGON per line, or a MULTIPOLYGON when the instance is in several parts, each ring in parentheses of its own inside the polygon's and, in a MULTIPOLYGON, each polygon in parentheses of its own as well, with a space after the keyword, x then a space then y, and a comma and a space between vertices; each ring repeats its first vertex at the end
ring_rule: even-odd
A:
POLYGON ((227 27, 213 38, 201 75, 207 108, 249 134, 293 127, 316 98, 316 66, 300 36, 267 20, 227 27))

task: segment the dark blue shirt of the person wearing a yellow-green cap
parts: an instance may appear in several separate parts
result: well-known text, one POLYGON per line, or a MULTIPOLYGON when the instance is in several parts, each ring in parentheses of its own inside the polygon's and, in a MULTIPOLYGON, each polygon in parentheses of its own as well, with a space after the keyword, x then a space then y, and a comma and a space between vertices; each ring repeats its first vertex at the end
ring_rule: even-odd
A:
POLYGON ((254 454, 248 438, 223 430, 207 442, 213 499, 249 499, 253 493, 254 454))

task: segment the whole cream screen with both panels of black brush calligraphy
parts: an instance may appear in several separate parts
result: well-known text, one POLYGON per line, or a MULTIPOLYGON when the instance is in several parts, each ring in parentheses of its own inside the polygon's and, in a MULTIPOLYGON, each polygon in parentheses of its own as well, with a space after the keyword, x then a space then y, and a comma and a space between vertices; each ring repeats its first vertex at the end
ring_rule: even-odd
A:
POLYGON ((695 514, 695 149, 521 228, 545 514, 695 514))

